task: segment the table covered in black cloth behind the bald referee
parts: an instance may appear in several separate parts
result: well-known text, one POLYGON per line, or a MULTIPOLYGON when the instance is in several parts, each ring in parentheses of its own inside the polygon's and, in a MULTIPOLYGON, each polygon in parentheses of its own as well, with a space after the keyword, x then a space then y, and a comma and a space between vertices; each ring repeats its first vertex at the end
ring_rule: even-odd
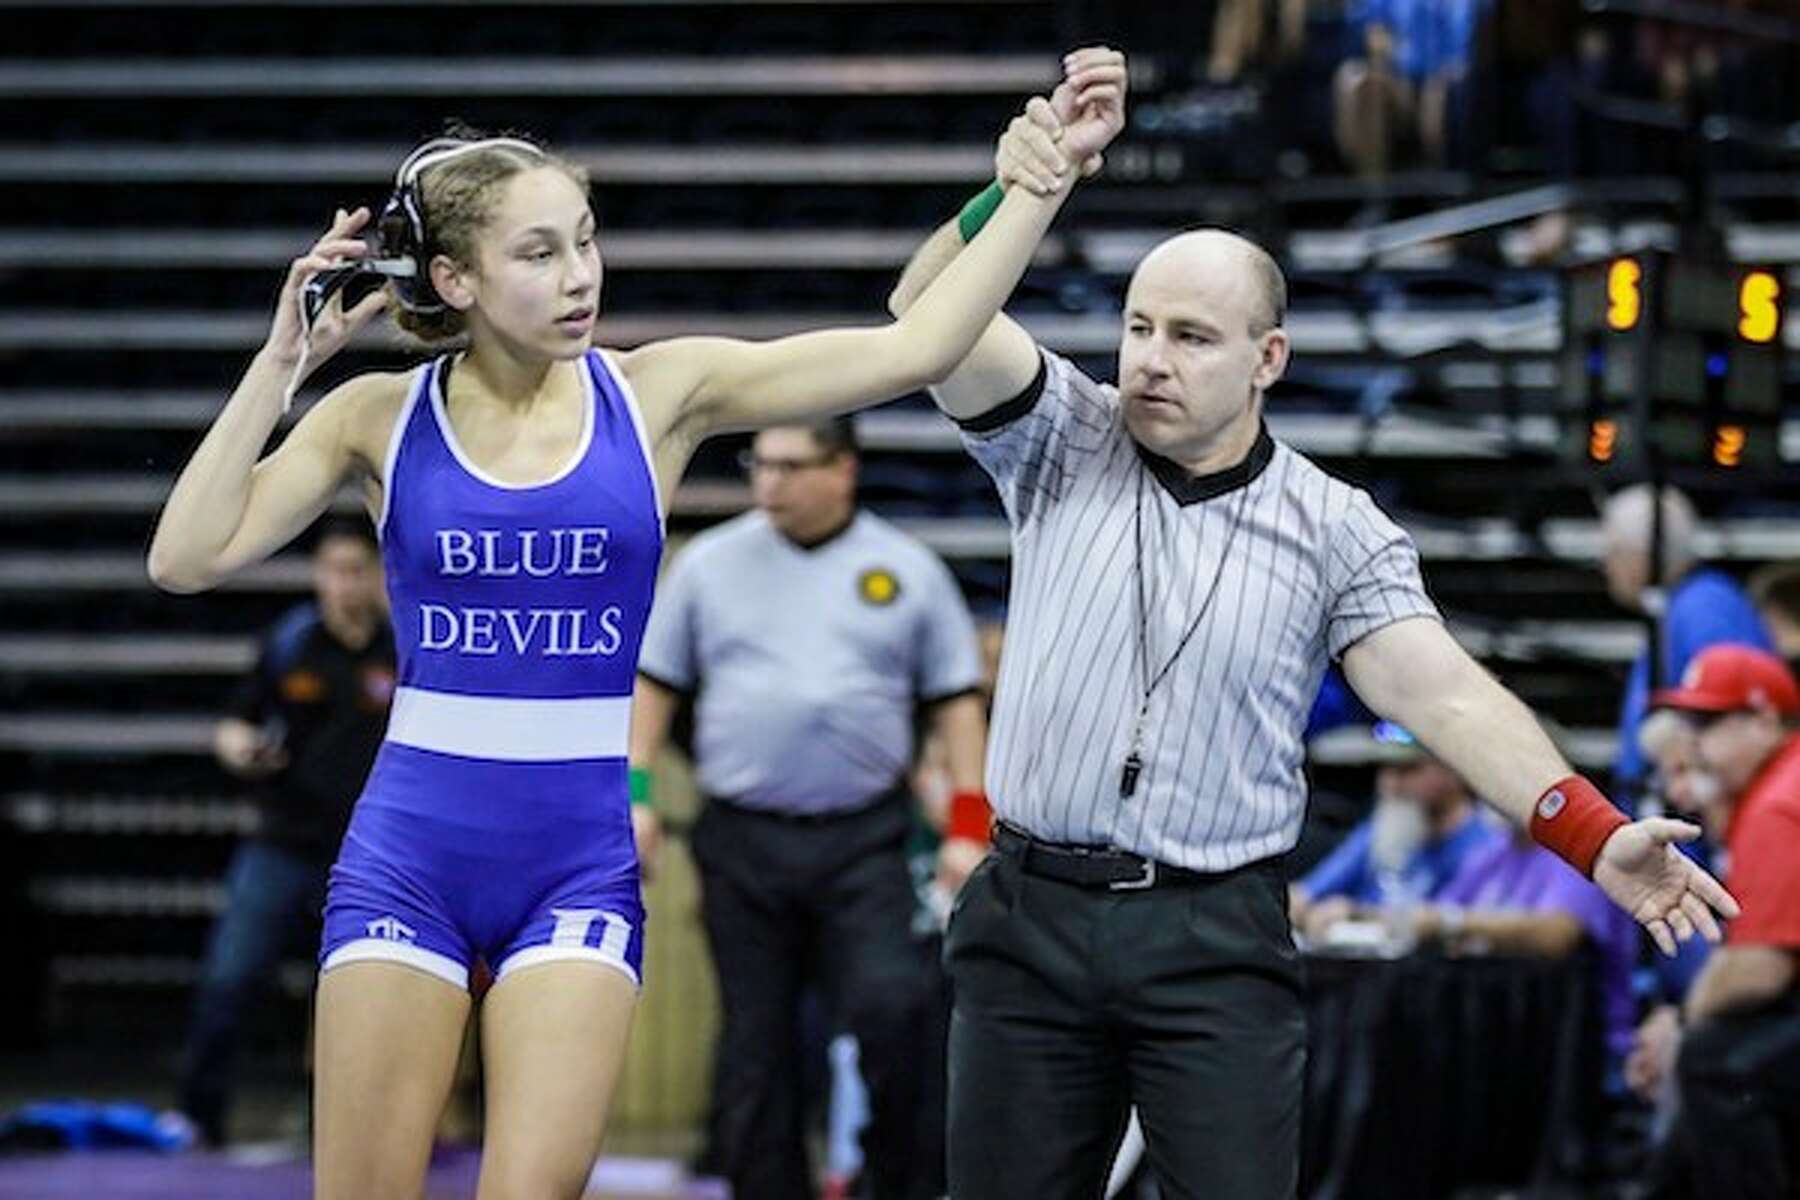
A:
POLYGON ((1442 1200, 1579 1177, 1604 1060, 1586 954, 1309 955, 1300 1195, 1442 1200))

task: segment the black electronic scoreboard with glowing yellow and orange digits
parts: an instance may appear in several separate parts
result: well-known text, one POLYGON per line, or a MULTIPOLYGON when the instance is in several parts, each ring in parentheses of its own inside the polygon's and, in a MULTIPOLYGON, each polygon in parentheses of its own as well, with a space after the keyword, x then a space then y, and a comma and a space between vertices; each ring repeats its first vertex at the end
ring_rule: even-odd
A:
POLYGON ((1577 268, 1562 306, 1568 457, 1638 471, 1780 462, 1778 268, 1665 250, 1577 268))

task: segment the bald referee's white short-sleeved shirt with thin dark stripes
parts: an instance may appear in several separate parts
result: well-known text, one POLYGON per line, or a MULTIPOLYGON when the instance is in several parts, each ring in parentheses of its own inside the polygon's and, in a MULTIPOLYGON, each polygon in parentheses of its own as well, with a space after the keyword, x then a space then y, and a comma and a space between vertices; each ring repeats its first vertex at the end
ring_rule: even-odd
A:
POLYGON ((965 423, 963 441, 1012 522, 986 765, 995 815, 1044 840, 1199 871, 1291 849, 1307 806, 1301 734, 1328 658, 1393 621, 1438 617, 1411 538, 1267 430, 1242 464, 1186 475, 1132 441, 1118 389, 1048 353, 1037 381, 965 423), (1150 696, 1141 777, 1121 797, 1145 684, 1138 497, 1152 676, 1219 579, 1150 696))

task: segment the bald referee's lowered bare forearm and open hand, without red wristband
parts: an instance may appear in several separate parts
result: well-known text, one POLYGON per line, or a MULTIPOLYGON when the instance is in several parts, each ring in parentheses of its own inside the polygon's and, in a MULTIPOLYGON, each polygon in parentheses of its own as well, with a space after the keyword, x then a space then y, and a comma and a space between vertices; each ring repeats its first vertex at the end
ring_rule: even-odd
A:
MULTIPOLYGON (((1530 709, 1436 621, 1395 621, 1357 640, 1345 651, 1345 676, 1370 709, 1413 730, 1521 828, 1532 828, 1539 801, 1571 775, 1530 709)), ((1593 882, 1663 954, 1696 932, 1719 941, 1714 914, 1737 916, 1732 894, 1674 846, 1697 837, 1683 820, 1620 824, 1593 860, 1593 882)))

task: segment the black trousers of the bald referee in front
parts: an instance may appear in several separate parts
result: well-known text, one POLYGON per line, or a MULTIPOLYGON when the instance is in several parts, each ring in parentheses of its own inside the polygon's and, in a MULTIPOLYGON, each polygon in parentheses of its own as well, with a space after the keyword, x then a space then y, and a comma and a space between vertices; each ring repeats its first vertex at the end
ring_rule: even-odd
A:
POLYGON ((945 963, 952 1200, 1100 1196, 1132 1105, 1166 1196, 1294 1195, 1305 1011, 1273 864, 1130 892, 995 851, 945 963))

